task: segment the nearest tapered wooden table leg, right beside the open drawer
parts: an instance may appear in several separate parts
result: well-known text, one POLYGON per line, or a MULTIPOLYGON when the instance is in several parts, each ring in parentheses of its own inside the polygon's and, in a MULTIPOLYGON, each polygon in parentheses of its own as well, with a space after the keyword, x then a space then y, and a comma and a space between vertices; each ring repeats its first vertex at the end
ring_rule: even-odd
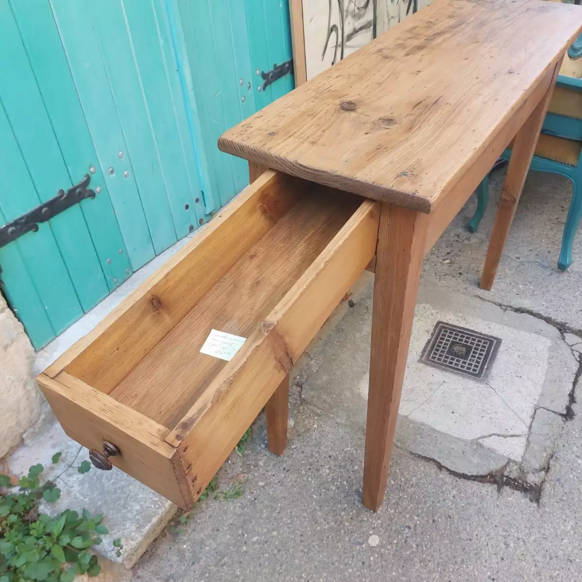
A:
POLYGON ((414 306, 424 257, 428 215, 382 204, 376 255, 370 388, 365 435, 364 505, 382 505, 414 306))

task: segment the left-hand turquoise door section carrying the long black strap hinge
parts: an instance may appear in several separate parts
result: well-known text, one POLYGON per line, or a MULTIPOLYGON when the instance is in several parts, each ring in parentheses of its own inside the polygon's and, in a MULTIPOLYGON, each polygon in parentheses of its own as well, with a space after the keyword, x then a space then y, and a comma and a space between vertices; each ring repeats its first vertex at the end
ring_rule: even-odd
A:
POLYGON ((102 184, 95 200, 0 249, 3 290, 38 347, 131 267, 51 9, 48 2, 32 8, 0 2, 0 221, 68 189, 91 164, 93 182, 102 184))

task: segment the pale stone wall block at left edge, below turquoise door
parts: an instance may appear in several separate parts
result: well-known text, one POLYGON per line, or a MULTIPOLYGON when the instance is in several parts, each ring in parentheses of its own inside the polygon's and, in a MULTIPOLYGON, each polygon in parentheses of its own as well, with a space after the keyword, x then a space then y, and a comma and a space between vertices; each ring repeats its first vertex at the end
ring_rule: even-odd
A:
POLYGON ((33 346, 0 294, 0 459, 40 417, 43 397, 33 362, 33 346))

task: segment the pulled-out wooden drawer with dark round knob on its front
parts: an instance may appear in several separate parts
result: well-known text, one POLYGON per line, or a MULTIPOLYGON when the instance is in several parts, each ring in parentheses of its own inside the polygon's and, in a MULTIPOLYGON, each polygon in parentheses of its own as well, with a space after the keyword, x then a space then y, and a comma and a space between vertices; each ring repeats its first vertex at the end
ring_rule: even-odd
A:
POLYGON ((265 172, 38 376, 67 434, 190 508, 374 256, 378 204, 265 172), (232 360, 211 329, 247 338, 232 360))

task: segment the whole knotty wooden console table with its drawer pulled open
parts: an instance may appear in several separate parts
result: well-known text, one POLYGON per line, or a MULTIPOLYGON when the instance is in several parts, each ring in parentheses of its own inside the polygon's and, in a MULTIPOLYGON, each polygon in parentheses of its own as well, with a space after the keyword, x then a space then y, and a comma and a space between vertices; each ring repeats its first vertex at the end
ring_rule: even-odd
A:
POLYGON ((377 510, 423 258, 515 136, 491 286, 581 28, 579 6, 435 0, 226 132, 253 183, 38 376, 67 434, 191 508, 265 405, 283 452, 289 371, 375 265, 363 491, 377 510))

